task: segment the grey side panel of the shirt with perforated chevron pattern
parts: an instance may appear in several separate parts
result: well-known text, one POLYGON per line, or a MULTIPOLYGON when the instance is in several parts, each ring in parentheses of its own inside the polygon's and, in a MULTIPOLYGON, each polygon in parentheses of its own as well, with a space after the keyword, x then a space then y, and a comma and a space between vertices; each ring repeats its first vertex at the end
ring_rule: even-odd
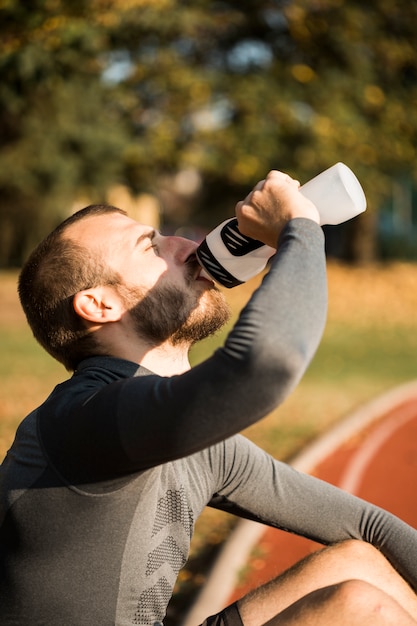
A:
POLYGON ((116 623, 154 626, 162 622, 181 567, 187 560, 192 503, 182 463, 141 475, 138 502, 124 550, 116 623))

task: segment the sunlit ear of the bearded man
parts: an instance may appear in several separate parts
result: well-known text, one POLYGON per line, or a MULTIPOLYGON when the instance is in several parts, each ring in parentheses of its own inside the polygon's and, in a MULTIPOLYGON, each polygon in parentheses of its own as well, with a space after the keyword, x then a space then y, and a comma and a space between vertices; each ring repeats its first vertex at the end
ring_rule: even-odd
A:
POLYGON ((74 296, 74 310, 93 324, 117 322, 124 312, 120 297, 111 287, 84 289, 74 296))

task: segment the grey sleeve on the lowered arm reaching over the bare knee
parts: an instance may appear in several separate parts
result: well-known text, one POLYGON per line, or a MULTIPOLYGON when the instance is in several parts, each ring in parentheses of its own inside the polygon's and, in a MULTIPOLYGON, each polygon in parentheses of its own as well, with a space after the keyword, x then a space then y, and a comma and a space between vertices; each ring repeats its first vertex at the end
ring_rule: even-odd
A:
POLYGON ((322 544, 361 539, 417 590, 417 531, 395 515, 276 461, 244 437, 211 450, 221 488, 211 506, 322 544))

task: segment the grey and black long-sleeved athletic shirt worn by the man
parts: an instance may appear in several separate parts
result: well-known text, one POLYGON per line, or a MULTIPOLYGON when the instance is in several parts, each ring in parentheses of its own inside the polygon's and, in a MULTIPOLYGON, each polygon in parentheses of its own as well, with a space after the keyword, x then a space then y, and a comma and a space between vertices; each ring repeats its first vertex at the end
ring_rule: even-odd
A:
POLYGON ((225 345, 157 376, 94 357, 19 426, 0 471, 2 626, 162 622, 206 505, 323 544, 362 538, 417 586, 417 533, 237 434, 275 408, 326 316, 323 233, 292 220, 225 345))

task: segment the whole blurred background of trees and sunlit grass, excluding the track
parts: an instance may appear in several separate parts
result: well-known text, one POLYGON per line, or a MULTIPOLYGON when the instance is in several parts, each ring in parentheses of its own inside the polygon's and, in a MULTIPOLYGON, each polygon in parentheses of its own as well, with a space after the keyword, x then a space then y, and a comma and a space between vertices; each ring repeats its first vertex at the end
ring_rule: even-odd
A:
MULTIPOLYGON (((322 344, 247 434, 287 459, 416 377, 416 32, 410 0, 0 0, 1 457, 66 377, 31 338, 18 268, 92 202, 198 240, 268 170, 305 182, 345 162, 368 210, 326 228, 322 344)), ((258 281, 228 292, 235 316, 258 281)), ((233 523, 203 515, 167 626, 233 523)))

